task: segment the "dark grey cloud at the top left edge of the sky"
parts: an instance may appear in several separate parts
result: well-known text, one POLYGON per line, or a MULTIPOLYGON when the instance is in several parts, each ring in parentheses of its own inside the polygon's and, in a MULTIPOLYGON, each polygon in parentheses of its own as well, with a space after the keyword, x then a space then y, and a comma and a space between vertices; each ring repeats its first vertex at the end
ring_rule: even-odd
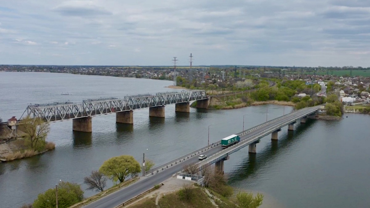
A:
POLYGON ((111 15, 110 11, 107 11, 101 6, 94 4, 93 1, 89 0, 75 0, 66 1, 61 5, 58 5, 53 9, 64 16, 98 16, 98 15, 111 15))

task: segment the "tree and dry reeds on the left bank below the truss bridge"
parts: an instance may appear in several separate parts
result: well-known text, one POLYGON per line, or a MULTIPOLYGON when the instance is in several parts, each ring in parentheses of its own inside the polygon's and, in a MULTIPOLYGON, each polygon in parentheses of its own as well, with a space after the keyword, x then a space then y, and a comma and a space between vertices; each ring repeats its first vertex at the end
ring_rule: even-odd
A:
POLYGON ((47 134, 50 131, 48 123, 27 117, 21 120, 19 126, 22 126, 24 139, 14 142, 19 150, 5 154, 3 158, 7 161, 32 157, 55 148, 53 142, 46 141, 47 134))

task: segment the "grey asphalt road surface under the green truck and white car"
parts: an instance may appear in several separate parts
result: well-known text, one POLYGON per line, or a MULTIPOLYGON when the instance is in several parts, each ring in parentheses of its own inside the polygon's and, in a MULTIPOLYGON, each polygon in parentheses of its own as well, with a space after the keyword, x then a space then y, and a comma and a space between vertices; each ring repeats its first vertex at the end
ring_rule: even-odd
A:
MULTIPOLYGON (((247 137, 257 135, 261 133, 262 131, 272 127, 275 124, 281 123, 283 121, 289 120, 294 116, 297 116, 299 114, 304 113, 307 111, 305 108, 304 110, 297 111, 295 114, 290 115, 286 118, 283 118, 282 120, 277 120, 273 123, 270 123, 268 125, 265 125, 263 127, 260 127, 249 134, 245 134, 240 137, 240 140, 243 141, 247 137)), ((223 148, 220 146, 211 148, 208 151, 203 152, 202 154, 205 154, 207 156, 211 156, 213 154, 216 154, 217 152, 223 150, 223 148)), ((88 205, 85 205, 84 208, 114 208, 118 205, 122 204, 125 201, 128 201, 131 198, 136 197, 137 195, 147 191, 150 188, 153 188, 155 185, 161 184, 163 181, 167 180, 168 178, 172 177, 175 173, 183 170, 184 164, 192 164, 198 162, 198 157, 190 158, 184 162, 181 162, 178 165, 175 165, 171 168, 168 168, 164 171, 161 171, 151 177, 145 177, 141 178, 139 181, 135 182, 134 184, 129 185, 128 187, 122 188, 116 192, 113 192, 101 199, 98 199, 97 201, 91 202, 88 205)))

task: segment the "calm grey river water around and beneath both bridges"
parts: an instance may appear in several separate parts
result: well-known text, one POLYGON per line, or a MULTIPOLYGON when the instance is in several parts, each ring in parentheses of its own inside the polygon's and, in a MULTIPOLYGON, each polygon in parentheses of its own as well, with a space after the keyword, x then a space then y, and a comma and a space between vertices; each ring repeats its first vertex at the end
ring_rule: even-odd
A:
MULTIPOLYGON (((88 98, 178 91, 165 88, 171 81, 83 76, 55 73, 0 73, 0 117, 20 117, 29 103, 81 102, 88 98), (60 95, 61 93, 72 95, 60 95)), ((0 207, 19 207, 59 181, 82 184, 91 170, 110 157, 127 154, 162 164, 207 144, 210 140, 283 115, 283 107, 256 106, 234 110, 196 110, 166 118, 149 118, 148 109, 134 111, 134 125, 115 124, 115 115, 92 119, 92 134, 72 132, 72 121, 51 123, 49 141, 54 151, 25 160, 0 164, 0 207), (149 149, 149 150, 146 150, 149 149)), ((285 113, 292 108, 285 107, 285 113)), ((368 207, 370 204, 369 116, 346 114, 341 121, 313 121, 287 127, 279 141, 263 138, 257 154, 244 148, 225 162, 233 187, 260 191, 265 207, 368 207)), ((112 184, 109 184, 112 185, 112 184)), ((94 192, 85 191, 85 196, 94 192)), ((263 206, 262 206, 263 207, 263 206)))

